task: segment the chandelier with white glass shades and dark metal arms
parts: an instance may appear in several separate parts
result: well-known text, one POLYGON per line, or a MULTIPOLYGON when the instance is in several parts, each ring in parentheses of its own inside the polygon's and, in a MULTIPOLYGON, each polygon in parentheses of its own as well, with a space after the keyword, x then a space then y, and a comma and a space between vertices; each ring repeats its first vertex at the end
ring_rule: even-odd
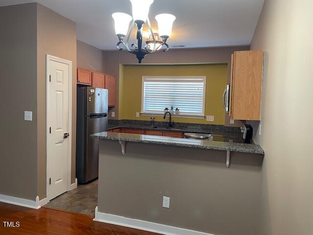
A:
POLYGON ((115 24, 115 33, 118 37, 118 43, 116 45, 118 50, 122 50, 123 45, 129 52, 136 55, 138 62, 141 63, 143 57, 147 54, 153 54, 157 50, 163 47, 163 51, 168 51, 169 47, 166 44, 167 39, 171 36, 173 22, 176 17, 171 14, 159 14, 156 15, 156 21, 158 25, 158 33, 153 32, 148 14, 150 5, 153 0, 130 0, 132 2, 133 17, 126 13, 116 12, 112 14, 115 24), (129 27, 130 22, 131 26, 129 27), (142 32, 143 24, 148 23, 150 29, 150 37, 146 41, 146 45, 142 48, 142 32), (129 46, 129 38, 134 28, 134 24, 137 26, 137 44, 129 46), (124 39, 126 37, 126 42, 124 39))

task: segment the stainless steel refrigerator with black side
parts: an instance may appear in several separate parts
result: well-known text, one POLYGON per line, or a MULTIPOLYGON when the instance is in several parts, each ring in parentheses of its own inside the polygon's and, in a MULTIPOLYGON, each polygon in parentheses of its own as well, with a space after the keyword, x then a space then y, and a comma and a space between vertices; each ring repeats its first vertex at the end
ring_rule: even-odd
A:
POLYGON ((108 129, 108 90, 77 88, 76 178, 87 183, 98 177, 99 140, 94 133, 108 129))

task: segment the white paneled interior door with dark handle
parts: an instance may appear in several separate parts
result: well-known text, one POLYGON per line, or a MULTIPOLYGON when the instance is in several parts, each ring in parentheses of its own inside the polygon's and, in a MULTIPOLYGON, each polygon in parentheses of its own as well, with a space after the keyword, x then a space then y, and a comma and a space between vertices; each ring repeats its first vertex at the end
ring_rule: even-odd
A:
POLYGON ((70 65, 47 57, 47 197, 68 189, 70 65))

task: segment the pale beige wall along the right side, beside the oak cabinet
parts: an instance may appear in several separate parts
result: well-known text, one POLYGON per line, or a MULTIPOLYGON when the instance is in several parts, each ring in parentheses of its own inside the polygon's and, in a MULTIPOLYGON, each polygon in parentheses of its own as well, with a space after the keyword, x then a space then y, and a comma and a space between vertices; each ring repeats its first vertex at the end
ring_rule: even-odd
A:
POLYGON ((266 0, 251 42, 266 50, 261 235, 313 234, 312 10, 312 0, 266 0))

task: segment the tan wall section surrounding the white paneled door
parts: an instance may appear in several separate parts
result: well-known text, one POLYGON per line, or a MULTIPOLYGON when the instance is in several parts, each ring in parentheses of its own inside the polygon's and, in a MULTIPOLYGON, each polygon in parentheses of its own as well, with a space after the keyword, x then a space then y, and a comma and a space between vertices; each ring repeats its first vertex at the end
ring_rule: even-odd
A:
POLYGON ((38 195, 46 192, 46 54, 72 61, 72 162, 71 183, 76 172, 76 23, 38 4, 37 8, 37 108, 38 108, 38 195))

